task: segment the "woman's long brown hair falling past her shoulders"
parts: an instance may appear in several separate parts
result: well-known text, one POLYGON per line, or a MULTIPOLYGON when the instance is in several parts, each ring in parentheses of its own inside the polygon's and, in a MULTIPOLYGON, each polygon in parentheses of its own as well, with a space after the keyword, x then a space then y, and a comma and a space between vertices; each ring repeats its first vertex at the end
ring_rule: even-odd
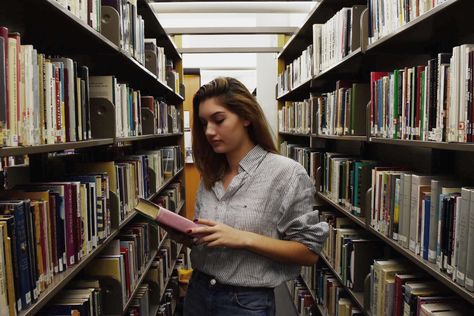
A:
POLYGON ((214 152, 207 141, 204 127, 199 119, 199 105, 207 99, 216 98, 219 103, 242 120, 250 122, 247 132, 250 139, 263 149, 277 153, 268 122, 255 97, 237 79, 219 77, 203 85, 193 98, 193 156, 204 185, 210 189, 220 180, 228 168, 224 154, 214 152))

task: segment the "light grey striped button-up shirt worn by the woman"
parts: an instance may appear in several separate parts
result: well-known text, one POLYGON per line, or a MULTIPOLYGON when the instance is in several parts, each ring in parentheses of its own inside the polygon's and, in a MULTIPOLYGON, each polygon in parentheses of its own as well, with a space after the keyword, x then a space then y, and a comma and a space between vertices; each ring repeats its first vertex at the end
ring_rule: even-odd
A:
MULTIPOLYGON (((315 253, 327 237, 327 223, 313 211, 315 188, 294 160, 255 146, 240 161, 239 173, 224 189, 222 181, 207 190, 201 183, 195 213, 233 228, 275 239, 293 240, 315 253)), ((224 284, 276 287, 294 278, 300 266, 279 263, 244 249, 194 246, 194 269, 224 284)))

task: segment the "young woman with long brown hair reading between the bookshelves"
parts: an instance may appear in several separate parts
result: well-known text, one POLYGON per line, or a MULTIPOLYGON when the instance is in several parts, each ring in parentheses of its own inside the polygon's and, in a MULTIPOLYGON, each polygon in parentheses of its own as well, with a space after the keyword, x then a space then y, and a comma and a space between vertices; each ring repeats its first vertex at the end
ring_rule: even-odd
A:
POLYGON ((277 153, 262 109, 238 80, 217 78, 193 99, 193 155, 201 174, 194 268, 185 316, 274 315, 273 289, 312 265, 327 236, 315 189, 277 153))

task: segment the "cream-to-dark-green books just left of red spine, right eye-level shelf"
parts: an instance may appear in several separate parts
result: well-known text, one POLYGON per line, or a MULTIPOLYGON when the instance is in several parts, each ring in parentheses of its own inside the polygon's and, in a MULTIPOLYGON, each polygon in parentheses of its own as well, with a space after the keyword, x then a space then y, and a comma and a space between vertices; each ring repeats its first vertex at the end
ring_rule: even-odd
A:
POLYGON ((368 84, 339 80, 335 91, 313 96, 311 101, 318 135, 366 135, 368 84))

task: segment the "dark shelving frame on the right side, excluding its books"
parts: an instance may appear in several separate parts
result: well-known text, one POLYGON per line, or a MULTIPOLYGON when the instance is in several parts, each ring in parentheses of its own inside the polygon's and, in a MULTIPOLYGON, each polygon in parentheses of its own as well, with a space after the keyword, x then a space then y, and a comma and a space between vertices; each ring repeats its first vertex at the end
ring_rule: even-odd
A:
MULTIPOLYGON (((321 0, 316 4, 303 26, 288 40, 279 54, 278 72, 282 73, 286 65, 313 44, 313 24, 325 23, 341 8, 359 4, 367 5, 367 1, 321 0)), ((332 67, 306 80, 293 90, 277 96, 278 109, 284 106, 285 101, 303 101, 310 98, 312 93, 317 95, 334 91, 337 80, 353 79, 357 82, 369 83, 371 71, 393 71, 403 67, 426 65, 429 59, 435 58, 440 52, 451 52, 454 46, 473 43, 472 17, 465 12, 474 12, 474 2, 446 0, 373 43, 369 43, 367 13, 363 13, 360 49, 348 54, 332 67)), ((370 108, 367 107, 366 111, 368 118, 370 108)), ((369 126, 363 136, 327 136, 315 134, 316 132, 312 131, 309 142, 304 137, 279 132, 279 143, 284 140, 293 141, 311 147, 315 151, 359 156, 362 159, 375 160, 386 165, 403 166, 407 168, 404 170, 421 174, 448 174, 462 180, 463 183, 474 183, 472 165, 474 143, 374 137, 370 135, 369 126)), ((319 190, 319 187, 317 189, 319 190)), ((441 283, 453 296, 474 307, 474 293, 454 282, 451 276, 441 272, 436 264, 424 260, 399 245, 397 241, 378 232, 371 227, 369 219, 354 215, 351 210, 331 200, 326 194, 317 192, 317 200, 319 203, 332 206, 340 214, 351 219, 357 227, 365 230, 368 235, 382 241, 396 256, 413 263, 418 270, 426 272, 441 283)), ((370 213, 370 210, 368 212, 370 213)), ((321 261, 340 279, 328 260, 322 258, 321 261)), ((364 306, 364 293, 354 293, 344 285, 343 287, 353 298, 354 303, 362 308, 363 313, 369 315, 369 308, 364 306)), ((314 293, 312 295, 314 296, 314 293)), ((317 306, 317 309, 324 314, 320 306, 317 306)))

